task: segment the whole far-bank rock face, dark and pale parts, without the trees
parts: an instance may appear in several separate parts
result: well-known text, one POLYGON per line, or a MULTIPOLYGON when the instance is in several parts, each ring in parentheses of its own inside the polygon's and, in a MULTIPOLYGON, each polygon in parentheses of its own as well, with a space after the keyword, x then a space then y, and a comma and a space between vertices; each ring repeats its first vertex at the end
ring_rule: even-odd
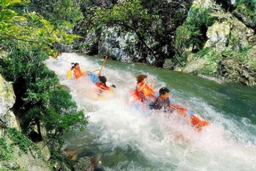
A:
MULTIPOLYGON (((144 3, 145 7, 152 9, 152 2, 144 3)), ((117 2, 100 1, 99 5, 111 6, 114 3, 117 2)), ((202 47, 197 47, 196 51, 194 47, 185 48, 181 55, 186 57, 181 62, 174 58, 177 56, 177 49, 175 50, 173 46, 176 39, 173 32, 182 22, 178 23, 175 20, 178 13, 165 11, 165 7, 176 10, 177 2, 173 1, 159 1, 153 5, 159 8, 157 10, 162 11, 159 24, 164 27, 161 35, 147 38, 147 44, 157 52, 157 57, 142 48, 143 44, 136 34, 125 32, 119 27, 87 33, 86 41, 80 46, 79 51, 101 56, 108 55, 122 62, 145 62, 170 70, 214 76, 229 82, 255 86, 256 22, 247 13, 246 6, 235 4, 234 0, 194 0, 192 3, 191 1, 178 1, 178 3, 184 7, 180 9, 182 14, 186 11, 186 5, 189 5, 190 10, 210 9, 210 16, 214 18, 213 25, 200 28, 205 34, 205 38, 201 40, 202 47)), ((190 12, 183 14, 185 18, 186 14, 189 18, 190 12)))

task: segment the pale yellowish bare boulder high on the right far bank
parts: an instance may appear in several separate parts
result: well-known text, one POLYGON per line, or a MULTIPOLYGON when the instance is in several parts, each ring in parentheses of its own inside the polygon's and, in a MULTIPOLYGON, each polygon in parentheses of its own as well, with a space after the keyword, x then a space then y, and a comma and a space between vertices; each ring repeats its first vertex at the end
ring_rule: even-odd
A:
POLYGON ((212 15, 217 17, 218 21, 208 28, 206 33, 208 40, 205 47, 212 47, 217 52, 224 51, 226 48, 240 51, 256 44, 254 30, 246 27, 232 14, 220 10, 212 15))

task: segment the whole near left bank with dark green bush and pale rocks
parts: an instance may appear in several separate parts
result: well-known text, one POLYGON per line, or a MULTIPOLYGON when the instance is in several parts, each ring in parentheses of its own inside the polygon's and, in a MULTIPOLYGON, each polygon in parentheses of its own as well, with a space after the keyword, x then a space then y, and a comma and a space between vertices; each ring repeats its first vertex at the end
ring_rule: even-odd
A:
MULTIPOLYGON (((30 111, 38 110, 36 110, 35 103, 33 103, 32 105, 28 105, 26 101, 27 99, 24 97, 29 94, 28 90, 25 89, 29 88, 29 84, 30 86, 32 85, 30 88, 35 88, 35 84, 32 83, 32 80, 24 81, 25 79, 32 78, 31 75, 26 75, 28 73, 27 71, 37 72, 36 76, 39 76, 42 73, 46 73, 45 77, 41 75, 40 78, 49 78, 51 81, 56 80, 57 82, 54 82, 54 87, 58 85, 60 86, 60 84, 58 84, 58 79, 56 78, 56 75, 54 75, 53 72, 50 72, 43 64, 44 58, 42 58, 42 56, 40 56, 41 59, 39 59, 39 56, 34 56, 34 58, 37 59, 36 62, 39 63, 36 63, 35 60, 32 60, 32 67, 36 66, 36 64, 39 64, 38 66, 41 66, 42 70, 38 70, 38 66, 36 66, 36 70, 32 71, 32 68, 27 66, 28 62, 22 62, 23 59, 31 61, 31 59, 29 58, 31 58, 32 55, 29 52, 16 50, 16 52, 25 53, 23 55, 17 55, 18 58, 15 59, 15 55, 13 54, 14 51, 15 50, 13 49, 13 51, 11 52, 7 52, 4 54, 1 53, 0 56, 0 170, 79 170, 75 168, 82 168, 83 166, 92 168, 90 160, 83 159, 82 162, 76 163, 74 161, 71 161, 66 156, 66 154, 64 154, 63 150, 61 150, 61 140, 63 139, 63 137, 59 137, 58 143, 55 142, 56 139, 54 141, 55 144, 52 143, 53 139, 56 138, 56 133, 54 136, 51 136, 52 132, 49 129, 54 126, 54 123, 52 123, 52 118, 51 120, 46 120, 51 121, 51 123, 48 125, 46 124, 45 120, 44 123, 41 122, 39 125, 39 129, 38 127, 36 127, 38 125, 35 124, 35 119, 28 119, 29 117, 31 117, 32 114, 31 112, 28 112, 28 108, 30 108, 30 111), (18 62, 18 64, 14 64, 13 62, 18 62), (24 68, 24 70, 22 68, 24 68), (22 75, 24 72, 25 74, 22 75), (50 73, 52 73, 53 75, 48 75, 50 73), (4 75, 5 78, 3 78, 2 75, 4 75), (7 82, 7 80, 9 80, 9 82, 7 82), (31 125, 29 125, 29 123, 31 123, 31 125)), ((39 83, 39 79, 34 80, 36 81, 36 83, 39 83)), ((38 85, 42 86, 42 84, 40 83, 38 85)), ((42 87, 44 88, 45 86, 46 84, 44 84, 44 86, 42 87)), ((86 125, 86 120, 84 120, 86 119, 86 117, 84 116, 84 113, 80 112, 79 115, 81 115, 81 117, 79 117, 78 113, 72 112, 72 110, 76 111, 76 105, 74 102, 71 101, 71 96, 68 92, 62 89, 62 86, 58 87, 58 89, 62 93, 64 93, 64 97, 60 94, 60 96, 56 97, 55 91, 54 97, 56 98, 54 99, 54 103, 56 104, 58 100, 62 100, 61 103, 64 103, 66 105, 63 106, 62 104, 58 104, 58 107, 61 107, 63 109, 63 107, 65 108, 68 106, 71 109, 68 111, 68 113, 65 113, 65 115, 63 113, 60 114, 61 112, 59 112, 60 115, 58 115, 58 113, 51 113, 51 116, 57 115, 56 119, 58 119, 58 122, 62 124, 63 122, 61 121, 61 116, 64 117, 65 121, 68 121, 68 117, 71 116, 72 122, 69 125, 74 129, 76 128, 76 126, 74 126, 73 116, 75 116, 78 118, 77 120, 79 123, 81 121, 84 121, 84 123, 81 123, 80 125, 80 127, 84 128, 86 125)), ((36 87, 35 92, 38 93, 38 90, 39 87, 36 87)), ((51 89, 47 88, 47 90, 52 91, 53 89, 51 87, 51 89)), ((35 95, 35 93, 31 94, 33 96, 35 95)), ((43 91, 42 96, 45 100, 45 97, 47 96, 47 92, 45 90, 43 91)), ((46 109, 52 109, 49 107, 49 105, 51 104, 50 100, 46 100, 46 104, 46 109)), ((43 116, 46 116, 47 110, 42 109, 43 104, 38 103, 38 105, 40 107, 39 112, 42 113, 43 116)), ((66 124, 67 122, 65 123, 65 125, 66 124)), ((65 133, 68 132, 67 126, 68 125, 66 125, 65 129, 63 130, 65 133)))

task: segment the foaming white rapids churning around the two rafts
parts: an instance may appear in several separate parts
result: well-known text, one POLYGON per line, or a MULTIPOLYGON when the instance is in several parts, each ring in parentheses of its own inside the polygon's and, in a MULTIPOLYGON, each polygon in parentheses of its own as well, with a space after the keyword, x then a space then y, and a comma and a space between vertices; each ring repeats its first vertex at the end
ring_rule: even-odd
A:
MULTIPOLYGON (((137 73, 149 72, 157 81, 153 72, 136 70, 134 64, 127 64, 122 70, 115 64, 107 65, 104 75, 116 84, 116 96, 97 101, 95 86, 87 77, 66 80, 71 62, 78 62, 89 71, 100 67, 92 58, 76 54, 62 54, 58 60, 46 61, 60 82, 70 88, 78 107, 90 116, 89 133, 70 136, 67 145, 101 153, 105 170, 256 169, 256 128, 250 121, 225 116, 224 111, 218 111, 200 97, 185 98, 186 92, 177 89, 171 93, 184 105, 204 113, 202 116, 212 123, 209 127, 197 133, 173 115, 166 119, 163 113, 154 112, 152 117, 145 117, 127 104, 127 95, 136 85, 137 73), (177 133, 182 133, 185 141, 177 140, 177 133)), ((156 89, 162 86, 165 83, 158 81, 156 89)))

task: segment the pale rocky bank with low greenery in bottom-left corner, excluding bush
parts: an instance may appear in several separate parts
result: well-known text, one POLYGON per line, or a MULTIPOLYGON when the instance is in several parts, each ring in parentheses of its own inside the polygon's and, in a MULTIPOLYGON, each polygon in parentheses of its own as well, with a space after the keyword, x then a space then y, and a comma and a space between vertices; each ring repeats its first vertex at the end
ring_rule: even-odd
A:
POLYGON ((17 131, 21 128, 12 111, 14 103, 13 85, 0 75, 0 170, 50 170, 47 146, 39 148, 17 131))

